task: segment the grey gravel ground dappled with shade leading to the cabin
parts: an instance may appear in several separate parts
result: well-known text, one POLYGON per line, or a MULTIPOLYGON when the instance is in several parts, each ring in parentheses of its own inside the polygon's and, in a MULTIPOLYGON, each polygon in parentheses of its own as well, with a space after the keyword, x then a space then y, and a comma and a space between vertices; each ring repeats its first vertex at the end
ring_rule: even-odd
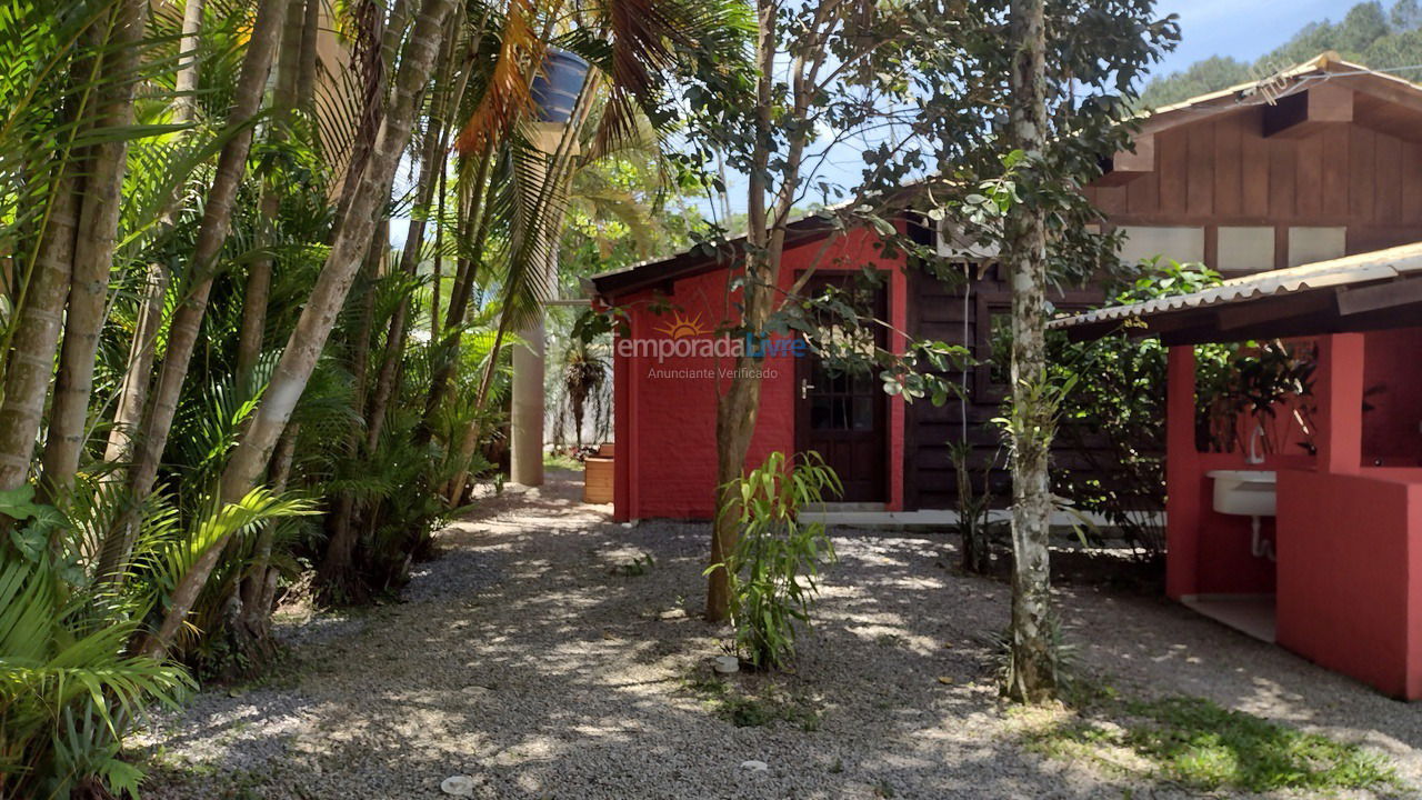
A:
MULTIPOLYGON (((1022 749, 993 682, 1007 586, 943 567, 941 538, 843 531, 798 673, 741 676, 792 719, 737 727, 708 699, 695 618, 707 527, 611 524, 570 474, 439 534, 405 602, 293 632, 300 668, 208 692, 146 736, 159 800, 442 797, 1122 797, 1022 749), (640 575, 621 565, 650 554, 640 575), (690 611, 690 614, 688 614, 690 611), (233 696, 236 695, 236 696, 233 696), (764 762, 766 769, 742 767, 764 762)), ((1422 710, 1183 608, 1061 591, 1086 669, 1365 740, 1422 784, 1422 710)), ((1136 796, 1165 797, 1150 787, 1136 796)))

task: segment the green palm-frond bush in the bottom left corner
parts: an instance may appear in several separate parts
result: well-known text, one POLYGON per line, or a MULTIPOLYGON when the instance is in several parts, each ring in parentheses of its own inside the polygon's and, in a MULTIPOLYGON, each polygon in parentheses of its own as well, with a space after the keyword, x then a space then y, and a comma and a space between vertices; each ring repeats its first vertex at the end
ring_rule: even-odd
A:
POLYGON ((10 525, 0 541, 0 797, 137 797, 142 773, 121 757, 125 732, 193 686, 179 665, 132 655, 159 598, 213 542, 310 505, 253 490, 209 504, 183 530, 155 495, 122 581, 111 582, 85 559, 122 498, 94 487, 55 508, 33 495, 30 485, 0 493, 10 525))

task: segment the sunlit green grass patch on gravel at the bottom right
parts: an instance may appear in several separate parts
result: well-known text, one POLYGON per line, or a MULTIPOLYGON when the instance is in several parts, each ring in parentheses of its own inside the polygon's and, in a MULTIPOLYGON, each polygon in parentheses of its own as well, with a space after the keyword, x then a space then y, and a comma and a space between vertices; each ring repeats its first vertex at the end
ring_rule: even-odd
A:
POLYGON ((1200 791, 1404 789, 1384 756, 1202 698, 1106 696, 1086 710, 1031 730, 1028 746, 1200 791))

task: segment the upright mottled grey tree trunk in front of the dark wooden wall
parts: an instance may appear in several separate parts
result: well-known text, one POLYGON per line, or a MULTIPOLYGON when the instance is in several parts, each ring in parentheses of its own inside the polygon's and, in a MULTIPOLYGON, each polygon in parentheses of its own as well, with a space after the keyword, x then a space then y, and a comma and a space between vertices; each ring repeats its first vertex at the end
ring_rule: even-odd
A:
MULTIPOLYGON (((1048 487, 1052 409, 1047 393, 1047 225, 1032 164, 1047 145, 1042 0, 1012 0, 1011 145, 1028 154, 1022 202, 1008 216, 1012 283, 1012 619, 1007 695, 1028 703, 1057 695, 1052 652, 1048 487)), ((1020 185, 1022 181, 1018 182, 1020 185)))

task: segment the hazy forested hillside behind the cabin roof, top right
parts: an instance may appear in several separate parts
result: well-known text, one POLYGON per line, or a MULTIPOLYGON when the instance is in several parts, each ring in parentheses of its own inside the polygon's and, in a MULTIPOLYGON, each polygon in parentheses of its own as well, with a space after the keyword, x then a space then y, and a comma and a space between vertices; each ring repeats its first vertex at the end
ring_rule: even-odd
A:
POLYGON ((1140 94, 1140 102, 1146 108, 1169 105, 1270 75, 1325 50, 1374 70, 1396 70, 1408 80, 1422 78, 1422 6, 1418 0, 1395 0, 1391 7, 1376 0, 1358 3, 1338 23, 1308 23, 1254 63, 1213 56, 1182 73, 1153 78, 1140 94))

